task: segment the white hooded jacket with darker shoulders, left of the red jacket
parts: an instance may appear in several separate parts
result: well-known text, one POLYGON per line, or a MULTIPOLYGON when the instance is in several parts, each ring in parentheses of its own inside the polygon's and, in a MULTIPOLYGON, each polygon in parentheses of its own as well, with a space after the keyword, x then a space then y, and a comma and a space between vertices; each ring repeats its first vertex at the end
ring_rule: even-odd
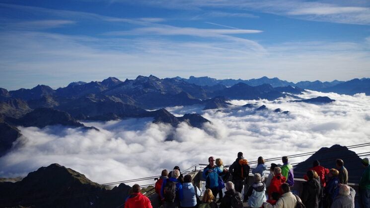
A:
POLYGON ((248 205, 251 208, 260 208, 262 204, 266 201, 266 186, 262 182, 255 182, 252 186, 249 187, 247 196, 248 205))

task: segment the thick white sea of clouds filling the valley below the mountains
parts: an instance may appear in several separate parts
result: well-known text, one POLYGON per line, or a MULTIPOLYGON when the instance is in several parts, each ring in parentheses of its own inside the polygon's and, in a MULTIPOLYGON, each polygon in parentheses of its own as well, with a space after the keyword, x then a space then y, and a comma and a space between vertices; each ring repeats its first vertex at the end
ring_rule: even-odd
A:
MULTIPOLYGON (((151 118, 83 122, 100 132, 62 126, 18 127, 24 137, 17 142, 22 145, 0 158, 0 177, 26 176, 41 166, 59 163, 94 182, 108 183, 159 175, 162 169, 175 165, 184 170, 196 163, 208 163, 211 155, 231 164, 238 151, 253 161, 258 156, 279 157, 370 141, 370 96, 316 91, 299 95, 303 99, 317 96, 336 101, 314 105, 289 102, 293 98, 287 97, 275 101, 231 100, 234 106, 222 110, 202 111, 203 106, 196 105, 166 108, 176 116, 201 114, 212 122, 205 124, 204 130, 185 123, 177 128, 153 124, 151 118), (246 103, 266 105, 268 110, 242 107, 246 103), (290 114, 273 112, 276 108, 290 114), (169 136, 174 140, 167 141, 169 136)), ((352 150, 361 153, 368 149, 352 150)), ((292 158, 291 162, 306 158, 292 158)))

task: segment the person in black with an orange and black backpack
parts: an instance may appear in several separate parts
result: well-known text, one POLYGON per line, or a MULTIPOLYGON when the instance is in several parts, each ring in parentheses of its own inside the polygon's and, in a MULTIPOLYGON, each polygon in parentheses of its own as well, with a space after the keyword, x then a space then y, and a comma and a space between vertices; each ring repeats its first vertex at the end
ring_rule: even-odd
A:
POLYGON ((243 157, 243 152, 238 152, 236 160, 230 165, 229 172, 232 175, 232 182, 235 186, 235 191, 241 193, 241 190, 243 190, 243 185, 245 182, 248 182, 248 180, 245 180, 248 178, 249 173, 249 165, 248 162, 243 157), (240 161, 241 160, 241 161, 240 161), (243 163, 242 161, 245 161, 243 163))

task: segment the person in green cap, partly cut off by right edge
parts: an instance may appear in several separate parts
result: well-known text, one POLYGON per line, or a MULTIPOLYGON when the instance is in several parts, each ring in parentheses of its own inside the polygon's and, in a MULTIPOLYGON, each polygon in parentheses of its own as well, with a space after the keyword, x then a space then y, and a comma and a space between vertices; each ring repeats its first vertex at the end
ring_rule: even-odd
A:
POLYGON ((363 208, 370 208, 370 165, 369 158, 364 158, 362 164, 365 167, 364 173, 361 176, 360 180, 360 205, 363 208))

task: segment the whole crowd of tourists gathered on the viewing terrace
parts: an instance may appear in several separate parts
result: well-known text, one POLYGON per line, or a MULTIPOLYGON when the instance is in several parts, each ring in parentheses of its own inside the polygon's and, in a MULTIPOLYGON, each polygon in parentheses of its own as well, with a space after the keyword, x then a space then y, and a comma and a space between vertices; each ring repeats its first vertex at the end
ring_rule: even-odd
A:
MULTIPOLYGON (((192 184, 192 176, 181 174, 175 166, 168 173, 163 170, 155 184, 163 208, 242 208, 243 201, 251 208, 354 208, 356 192, 348 186, 348 171, 341 159, 336 160, 336 168, 327 169, 318 160, 306 172, 300 196, 292 193, 294 169, 288 157, 282 157, 283 164, 272 163, 269 170, 263 157, 251 172, 254 182, 248 184, 250 166, 238 152, 236 160, 228 169, 222 159, 208 158, 209 164, 203 169, 206 190, 192 184), (269 173, 268 173, 269 172, 269 173), (267 177, 265 177, 268 174, 267 177), (231 179, 230 179, 231 176, 231 179), (223 193, 223 189, 225 192, 223 193), (244 188, 244 196, 241 195, 244 188), (219 195, 219 200, 216 201, 219 195), (219 204, 219 205, 218 205, 219 204)), ((364 158, 365 167, 359 183, 359 204, 370 208, 370 165, 364 158)), ((151 208, 148 198, 140 193, 140 186, 134 185, 125 208, 151 208)))

